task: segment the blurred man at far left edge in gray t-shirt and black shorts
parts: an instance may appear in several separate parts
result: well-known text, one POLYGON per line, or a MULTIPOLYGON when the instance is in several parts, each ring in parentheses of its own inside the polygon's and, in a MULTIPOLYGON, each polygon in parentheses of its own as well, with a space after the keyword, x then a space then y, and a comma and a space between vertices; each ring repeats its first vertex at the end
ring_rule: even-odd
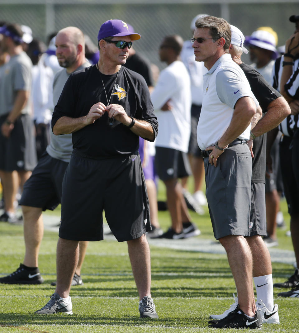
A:
POLYGON ((32 62, 22 48, 23 32, 17 24, 0 28, 0 46, 10 60, 0 68, 0 177, 4 188, 5 212, 1 221, 18 222, 14 201, 36 165, 33 121, 30 116, 32 62))

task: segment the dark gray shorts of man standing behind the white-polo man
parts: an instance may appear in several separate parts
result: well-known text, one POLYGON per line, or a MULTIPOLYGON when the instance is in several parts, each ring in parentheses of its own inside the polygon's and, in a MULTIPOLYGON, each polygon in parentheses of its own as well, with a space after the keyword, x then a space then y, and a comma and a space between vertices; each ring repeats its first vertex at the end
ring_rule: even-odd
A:
POLYGON ((251 183, 251 208, 249 222, 250 236, 266 236, 266 200, 265 184, 251 183))

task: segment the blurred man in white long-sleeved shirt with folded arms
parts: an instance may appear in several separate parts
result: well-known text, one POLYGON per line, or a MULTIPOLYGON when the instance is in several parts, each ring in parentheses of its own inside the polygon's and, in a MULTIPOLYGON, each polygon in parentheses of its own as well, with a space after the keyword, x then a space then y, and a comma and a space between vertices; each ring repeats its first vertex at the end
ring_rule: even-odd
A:
POLYGON ((190 175, 187 157, 190 138, 191 92, 190 78, 179 61, 183 40, 178 35, 166 36, 159 49, 162 62, 168 65, 161 71, 151 94, 159 123, 156 138, 155 165, 159 178, 166 186, 167 207, 171 227, 161 238, 178 239, 199 234, 191 223, 178 178, 190 175))

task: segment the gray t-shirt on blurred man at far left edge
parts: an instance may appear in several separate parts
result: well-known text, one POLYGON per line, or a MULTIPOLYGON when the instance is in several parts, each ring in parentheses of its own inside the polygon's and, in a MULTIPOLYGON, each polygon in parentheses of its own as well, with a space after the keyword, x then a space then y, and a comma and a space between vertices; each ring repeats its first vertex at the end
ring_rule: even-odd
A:
MULTIPOLYGON (((32 62, 25 52, 12 56, 0 67, 0 116, 11 112, 19 90, 31 89, 32 62)), ((30 113, 30 101, 22 109, 22 114, 30 113)))

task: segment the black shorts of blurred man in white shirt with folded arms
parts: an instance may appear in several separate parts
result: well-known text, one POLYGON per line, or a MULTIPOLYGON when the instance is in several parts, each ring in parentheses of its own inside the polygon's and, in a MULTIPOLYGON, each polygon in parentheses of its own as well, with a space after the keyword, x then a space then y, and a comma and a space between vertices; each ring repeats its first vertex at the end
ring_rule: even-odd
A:
POLYGON ((191 174, 187 154, 172 148, 156 147, 155 167, 161 180, 183 178, 191 174))

